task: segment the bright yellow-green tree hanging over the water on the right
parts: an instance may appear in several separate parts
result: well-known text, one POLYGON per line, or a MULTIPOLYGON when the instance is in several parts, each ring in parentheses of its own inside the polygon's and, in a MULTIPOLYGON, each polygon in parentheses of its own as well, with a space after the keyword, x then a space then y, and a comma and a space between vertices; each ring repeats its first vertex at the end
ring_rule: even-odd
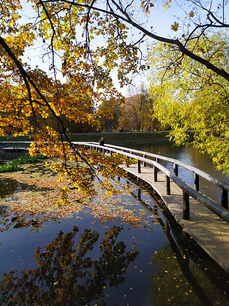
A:
MULTIPOLYGON (((228 67, 226 35, 215 33, 207 40, 199 38, 197 46, 192 43, 199 54, 228 67)), ((171 138, 178 145, 192 143, 206 151, 218 169, 228 173, 227 81, 188 57, 173 63, 173 50, 162 43, 155 45, 150 61, 157 61, 149 75, 152 94, 157 96, 154 110, 163 124, 170 124, 171 138), (166 73, 164 67, 169 68, 166 73)))

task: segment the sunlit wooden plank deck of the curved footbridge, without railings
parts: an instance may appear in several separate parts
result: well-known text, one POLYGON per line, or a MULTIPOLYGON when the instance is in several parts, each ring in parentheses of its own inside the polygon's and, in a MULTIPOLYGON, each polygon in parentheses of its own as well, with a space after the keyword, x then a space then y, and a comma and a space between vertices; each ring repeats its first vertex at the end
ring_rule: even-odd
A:
POLYGON ((123 168, 149 183, 161 196, 165 205, 184 230, 226 272, 229 272, 229 224, 190 197, 190 219, 183 219, 183 192, 170 182, 171 195, 165 194, 165 174, 158 172, 158 182, 153 182, 153 168, 143 167, 137 173, 137 165, 123 168))

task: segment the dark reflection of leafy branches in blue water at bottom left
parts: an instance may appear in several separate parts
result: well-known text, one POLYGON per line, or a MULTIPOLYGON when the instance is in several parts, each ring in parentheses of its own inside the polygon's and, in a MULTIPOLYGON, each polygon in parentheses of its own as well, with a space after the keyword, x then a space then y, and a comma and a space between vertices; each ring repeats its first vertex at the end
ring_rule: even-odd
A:
MULTIPOLYGON (((117 287, 125 280, 128 265, 139 251, 125 252, 126 245, 116 239, 122 227, 113 226, 99 244, 101 255, 92 260, 91 251, 99 234, 85 228, 75 247, 75 233, 59 232, 56 239, 35 253, 38 268, 4 274, 0 282, 1 305, 90 305, 105 306, 106 285, 117 287), (95 303, 93 303, 94 305, 95 303)), ((110 305, 110 304, 109 304, 110 305)))

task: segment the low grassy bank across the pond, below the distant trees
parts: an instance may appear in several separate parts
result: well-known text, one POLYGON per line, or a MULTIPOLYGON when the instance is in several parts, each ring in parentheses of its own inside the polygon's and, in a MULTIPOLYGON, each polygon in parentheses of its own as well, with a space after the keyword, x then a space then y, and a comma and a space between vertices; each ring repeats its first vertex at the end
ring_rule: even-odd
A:
MULTIPOLYGON (((95 141, 104 137, 105 143, 153 142, 168 140, 168 131, 160 132, 127 132, 127 133, 89 133, 68 135, 71 141, 95 141)), ((29 135, 20 137, 0 136, 0 141, 33 141, 29 135)))

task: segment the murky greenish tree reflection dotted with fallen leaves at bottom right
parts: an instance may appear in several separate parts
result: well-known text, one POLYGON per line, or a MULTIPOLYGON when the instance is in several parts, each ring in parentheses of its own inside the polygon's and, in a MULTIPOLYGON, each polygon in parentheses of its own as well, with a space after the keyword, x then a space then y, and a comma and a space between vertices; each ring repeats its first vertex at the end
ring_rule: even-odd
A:
POLYGON ((181 268, 177 260, 178 256, 171 251, 169 244, 154 254, 155 268, 152 269, 149 290, 150 306, 229 305, 228 300, 190 260, 187 266, 183 265, 181 268), (188 271, 192 272, 194 287, 190 285, 190 279, 187 281, 184 276, 185 269, 187 269, 187 275, 189 275, 188 271))

